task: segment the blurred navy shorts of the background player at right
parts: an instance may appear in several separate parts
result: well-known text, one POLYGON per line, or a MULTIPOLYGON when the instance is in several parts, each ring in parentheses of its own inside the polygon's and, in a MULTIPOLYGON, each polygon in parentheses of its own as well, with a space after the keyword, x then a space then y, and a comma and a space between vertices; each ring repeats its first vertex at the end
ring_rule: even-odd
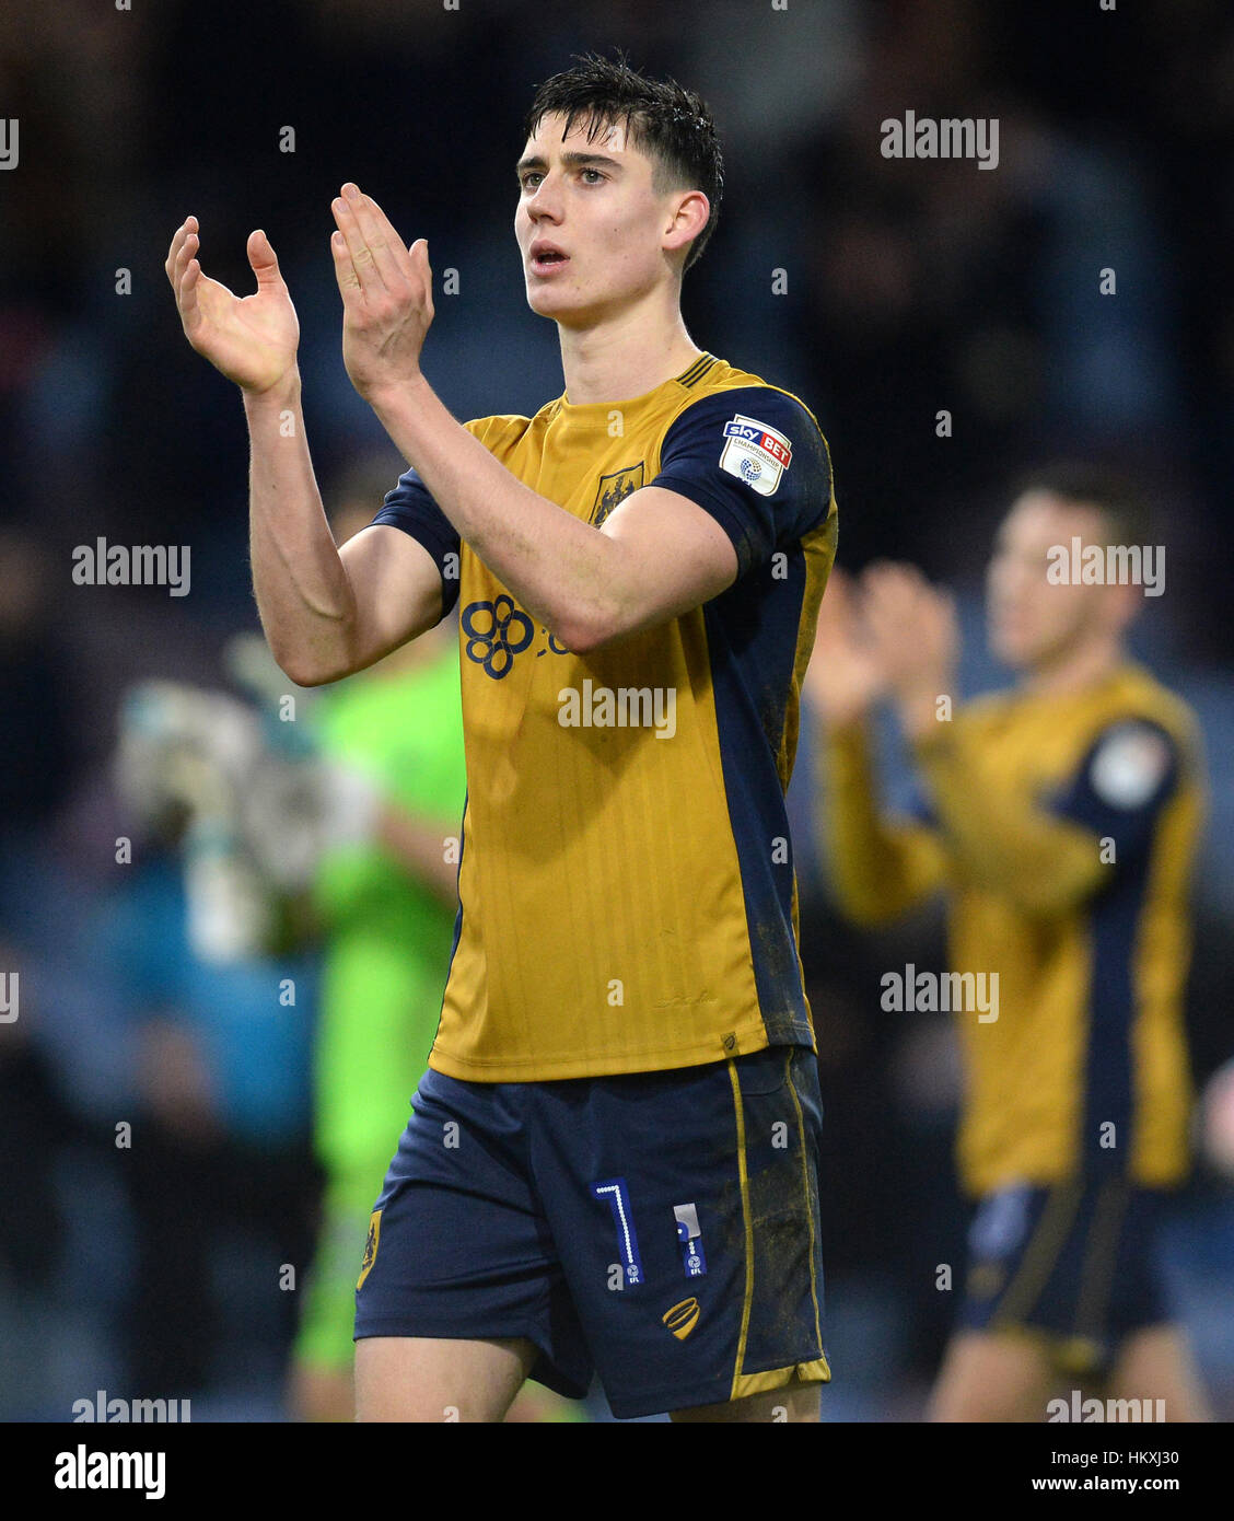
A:
POLYGON ((1059 1370, 1103 1372, 1126 1335, 1170 1319, 1164 1197, 1119 1176, 988 1194, 968 1235, 960 1326, 1044 1332, 1059 1370))

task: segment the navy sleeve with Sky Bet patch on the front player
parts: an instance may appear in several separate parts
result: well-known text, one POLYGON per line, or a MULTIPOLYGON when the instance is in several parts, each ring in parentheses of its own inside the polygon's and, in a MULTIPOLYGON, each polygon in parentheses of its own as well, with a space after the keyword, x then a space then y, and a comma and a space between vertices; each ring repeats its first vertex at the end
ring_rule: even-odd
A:
POLYGON ((743 576, 824 522, 831 461, 799 402, 770 386, 742 386, 685 408, 664 435, 650 484, 710 513, 732 540, 743 576))

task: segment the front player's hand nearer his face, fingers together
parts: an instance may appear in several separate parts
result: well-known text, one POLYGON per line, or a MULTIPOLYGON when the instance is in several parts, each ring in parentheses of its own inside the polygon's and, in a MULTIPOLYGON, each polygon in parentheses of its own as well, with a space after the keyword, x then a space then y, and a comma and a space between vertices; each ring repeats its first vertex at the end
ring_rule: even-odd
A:
POLYGON ((351 183, 331 202, 334 277, 343 298, 343 364, 351 383, 374 402, 419 377, 419 351, 433 321, 429 243, 410 248, 381 207, 351 183))

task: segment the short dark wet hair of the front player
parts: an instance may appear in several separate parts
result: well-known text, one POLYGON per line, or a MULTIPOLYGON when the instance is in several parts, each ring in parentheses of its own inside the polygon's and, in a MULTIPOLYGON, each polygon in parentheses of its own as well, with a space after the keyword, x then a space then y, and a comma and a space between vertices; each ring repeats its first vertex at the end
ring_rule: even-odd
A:
POLYGON ((546 116, 562 114, 568 137, 579 117, 590 117, 587 141, 625 123, 628 138, 655 160, 657 193, 702 190, 711 205, 707 227, 690 245, 684 269, 698 263, 720 214, 723 157, 716 123, 701 96, 676 79, 647 79, 625 56, 574 55, 574 67, 546 79, 527 113, 524 137, 535 137, 546 116))

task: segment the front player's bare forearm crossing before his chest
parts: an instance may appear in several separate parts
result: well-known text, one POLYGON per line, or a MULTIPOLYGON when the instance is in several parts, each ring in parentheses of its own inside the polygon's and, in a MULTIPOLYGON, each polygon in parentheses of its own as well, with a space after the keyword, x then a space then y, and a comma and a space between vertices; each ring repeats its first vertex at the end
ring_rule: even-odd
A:
POLYGON ((622 545, 518 481, 422 376, 368 400, 459 537, 550 633, 587 649, 620 627, 634 601, 622 545))

